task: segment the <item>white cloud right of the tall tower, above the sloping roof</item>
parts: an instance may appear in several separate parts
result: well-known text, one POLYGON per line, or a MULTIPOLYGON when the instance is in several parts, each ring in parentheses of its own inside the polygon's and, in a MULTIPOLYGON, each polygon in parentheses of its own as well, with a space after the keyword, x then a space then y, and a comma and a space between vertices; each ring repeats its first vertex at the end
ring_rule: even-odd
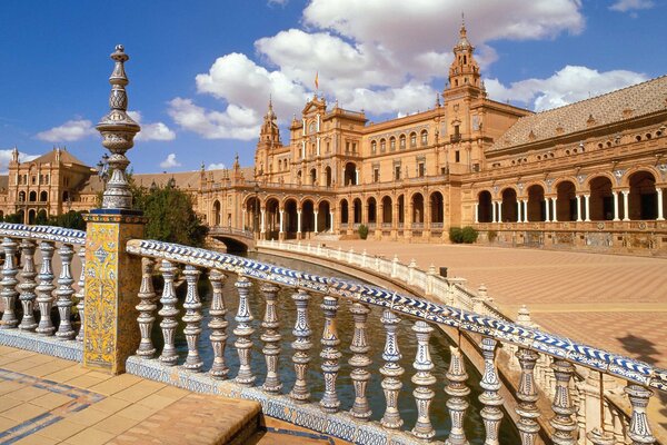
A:
POLYGON ((561 107, 629 85, 647 80, 639 72, 613 70, 599 72, 587 67, 566 66, 547 79, 526 79, 504 86, 497 79, 487 79, 491 99, 514 100, 534 106, 536 111, 561 107))

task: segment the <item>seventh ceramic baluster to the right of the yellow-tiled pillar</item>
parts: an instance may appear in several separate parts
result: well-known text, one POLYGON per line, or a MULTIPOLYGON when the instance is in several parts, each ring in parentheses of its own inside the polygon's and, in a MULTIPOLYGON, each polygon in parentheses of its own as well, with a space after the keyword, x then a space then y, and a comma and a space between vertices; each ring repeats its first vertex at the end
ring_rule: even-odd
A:
POLYGON ((312 343, 310 343, 312 330, 310 330, 310 324, 308 323, 308 299, 310 299, 310 295, 306 290, 299 289, 292 295, 292 299, 297 305, 297 320, 292 329, 292 334, 297 338, 291 344, 295 349, 292 363, 295 364, 297 379, 289 396, 297 403, 305 403, 310 398, 308 383, 306 382, 306 373, 310 363, 308 352, 312 348, 312 343))

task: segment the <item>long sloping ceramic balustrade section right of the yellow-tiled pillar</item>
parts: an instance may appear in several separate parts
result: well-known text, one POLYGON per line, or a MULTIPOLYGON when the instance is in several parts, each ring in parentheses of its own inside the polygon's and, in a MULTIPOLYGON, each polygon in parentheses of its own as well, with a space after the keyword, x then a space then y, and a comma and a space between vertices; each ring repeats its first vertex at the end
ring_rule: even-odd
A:
MULTIPOLYGON (((576 444, 583 439, 587 429, 578 424, 578 419, 574 415, 574 404, 577 400, 574 400, 571 396, 573 365, 589 368, 591 374, 600 373, 619 378, 627 385, 626 394, 631 405, 631 417, 627 431, 620 432, 621 436, 618 437, 618 432, 609 431, 608 425, 600 424, 598 429, 590 432, 588 436, 591 443, 607 444, 626 438, 634 444, 655 442, 645 408, 654 390, 667 390, 667 370, 665 369, 506 319, 476 314, 451 305, 430 303, 340 278, 310 275, 248 258, 152 240, 130 240, 127 244, 127 251, 143 257, 145 265, 142 286, 138 296, 140 300, 138 323, 141 327, 142 339, 137 350, 137 357, 130 360, 155 363, 156 360, 150 360, 150 358, 159 355, 160 366, 173 369, 175 365, 179 363, 178 353, 173 348, 173 336, 175 330, 178 329, 180 316, 185 323, 185 335, 188 343, 187 357, 180 357, 182 366, 176 365, 187 373, 180 377, 180 380, 197 382, 199 385, 203 385, 203 380, 195 377, 203 372, 208 372, 211 379, 226 379, 229 368, 225 363, 223 350, 226 347, 232 346, 238 354, 235 382, 240 388, 232 393, 259 399, 265 404, 267 415, 357 443, 385 442, 389 435, 395 434, 392 433, 395 431, 402 431, 398 433, 402 435, 402 438, 397 439, 397 443, 406 443, 407 434, 411 434, 416 439, 430 439, 435 435, 429 414, 431 400, 435 392, 444 389, 449 395, 447 408, 451 417, 447 443, 467 444, 464 424, 466 423, 466 413, 470 409, 468 399, 470 388, 459 347, 451 349, 447 382, 437 382, 431 373, 434 363, 430 356, 429 337, 434 325, 441 325, 467 333, 470 338, 479 343, 481 348, 484 376, 480 383, 482 393, 479 400, 484 405, 480 416, 486 431, 485 444, 499 443, 498 427, 504 415, 500 409, 504 404, 504 397, 500 395, 502 384, 498 377, 497 365, 499 344, 516 349, 518 364, 515 366, 519 372, 519 378, 515 385, 518 400, 515 411, 522 444, 535 444, 538 441, 540 425, 550 425, 549 431, 541 434, 542 437, 545 437, 544 434, 548 434, 552 443, 576 444), (165 277, 165 289, 159 299, 161 308, 157 313, 161 316, 160 327, 165 344, 161 352, 156 350, 150 338, 158 306, 158 296, 152 289, 152 285, 149 284, 155 261, 160 261, 160 271, 165 277), (180 314, 175 305, 172 283, 177 267, 183 268, 188 285, 188 295, 182 306, 185 314, 180 314), (208 270, 207 275, 213 288, 208 315, 205 315, 207 312, 203 310, 196 290, 199 269, 208 270), (221 283, 226 279, 227 274, 238 276, 236 288, 239 305, 233 318, 236 320, 232 329, 236 336, 233 345, 226 344, 230 326, 225 320, 226 307, 221 283), (261 289, 266 299, 266 313, 259 324, 261 333, 256 333, 258 324, 252 323, 256 315, 250 313, 248 305, 248 288, 252 286, 253 281, 262 283, 261 289), (281 313, 276 310, 278 304, 276 295, 280 287, 295 290, 292 299, 296 303, 297 315, 291 338, 293 354, 291 357, 280 357, 281 338, 277 328, 280 324, 281 313), (308 315, 311 310, 316 310, 313 296, 321 297, 320 307, 325 315, 325 329, 319 342, 313 338, 315 333, 310 328, 308 315), (350 303, 355 323, 354 337, 347 347, 341 347, 336 328, 338 309, 344 300, 350 303), (386 343, 381 355, 384 363, 379 364, 371 363, 369 350, 372 347, 381 346, 368 344, 366 337, 369 308, 374 306, 380 308, 381 323, 386 330, 386 343), (201 325, 207 318, 208 326, 211 328, 208 342, 199 338, 201 325), (404 369, 398 364, 401 353, 398 347, 396 327, 399 323, 407 323, 407 319, 414 322, 412 330, 418 345, 412 370, 404 369), (258 347, 258 340, 261 340, 263 348, 258 347), (319 353, 312 350, 318 343, 321 345, 319 353), (210 344, 210 348, 215 353, 213 363, 208 369, 198 358, 199 348, 209 347, 203 346, 207 344, 210 344), (253 362, 250 356, 260 350, 265 355, 266 373, 252 368, 253 362), (354 385, 355 398, 349 412, 350 416, 339 416, 338 414, 340 402, 337 377, 342 358, 341 350, 351 352, 348 363, 352 369, 349 378, 354 385), (310 389, 313 383, 309 382, 312 374, 308 373, 310 359, 316 354, 322 358, 321 373, 325 392, 320 400, 311 399, 310 389), (282 388, 279 376, 276 374, 276 363, 278 359, 287 362, 290 358, 293 363, 296 382, 291 387, 282 388), (540 364, 545 363, 551 370, 549 382, 551 382, 552 389, 547 394, 552 397, 552 413, 541 412, 538 404, 540 394, 536 386, 536 375, 538 372, 544 372, 545 366, 540 366, 540 364), (418 413, 415 425, 405 425, 401 414, 397 409, 398 398, 406 396, 400 392, 402 385, 399 378, 405 373, 411 377, 415 384, 412 397, 418 413), (376 378, 382 379, 381 387, 386 397, 385 414, 378 423, 378 427, 374 427, 375 422, 369 421, 370 407, 367 395, 369 379, 376 378), (269 400, 282 400, 283 405, 277 407, 269 400), (328 417, 317 417, 312 409, 325 413, 328 417), (296 411, 297 414, 287 416, 285 414, 287 411, 290 413, 296 411), (322 418, 326 421, 321 421, 322 418), (548 422, 540 422, 540 418, 548 422), (380 428, 380 425, 384 428, 380 428)), ((370 263, 367 266, 370 267, 370 263)), ((392 276, 401 275, 395 263, 392 266, 395 266, 394 271, 396 273, 392 276)), ((415 267, 407 266, 405 268, 407 269, 405 270, 406 278, 424 278, 424 276, 415 274, 415 267)), ((6 277, 8 277, 9 286, 11 276, 7 275, 6 277)), ((226 297, 229 298, 229 296, 226 297)), ((168 369, 160 373, 172 374, 168 369)))

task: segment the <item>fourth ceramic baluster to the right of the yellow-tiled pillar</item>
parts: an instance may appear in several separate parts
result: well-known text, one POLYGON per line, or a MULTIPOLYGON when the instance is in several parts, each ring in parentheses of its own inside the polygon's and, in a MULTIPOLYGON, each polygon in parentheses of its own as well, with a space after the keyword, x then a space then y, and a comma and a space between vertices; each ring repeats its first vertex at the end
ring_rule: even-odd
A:
POLYGON ((227 308, 225 307, 225 299, 222 298, 222 287, 227 276, 220 270, 211 270, 209 274, 209 280, 213 288, 211 297, 211 308, 209 315, 211 320, 208 327, 211 329, 211 346, 213 348, 213 365, 209 372, 213 378, 223 379, 227 378, 229 368, 225 364, 225 347, 227 346, 227 326, 228 323, 225 319, 227 308))

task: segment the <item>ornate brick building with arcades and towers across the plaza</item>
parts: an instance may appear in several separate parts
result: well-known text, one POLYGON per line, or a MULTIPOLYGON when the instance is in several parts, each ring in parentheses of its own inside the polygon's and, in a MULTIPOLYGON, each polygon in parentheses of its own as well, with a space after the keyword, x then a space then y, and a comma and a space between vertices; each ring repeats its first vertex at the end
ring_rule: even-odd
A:
MULTIPOLYGON (((172 180, 210 226, 263 238, 356 236, 364 224, 376 238, 446 241, 474 225, 505 244, 667 249, 667 77, 532 113, 488 98, 474 50, 461 27, 427 111, 374 123, 316 95, 283 144, 269 101, 253 168, 237 157, 228 170, 135 179, 172 180)), ((94 172, 63 150, 14 159, 0 206, 27 221, 90 208, 94 172)))

